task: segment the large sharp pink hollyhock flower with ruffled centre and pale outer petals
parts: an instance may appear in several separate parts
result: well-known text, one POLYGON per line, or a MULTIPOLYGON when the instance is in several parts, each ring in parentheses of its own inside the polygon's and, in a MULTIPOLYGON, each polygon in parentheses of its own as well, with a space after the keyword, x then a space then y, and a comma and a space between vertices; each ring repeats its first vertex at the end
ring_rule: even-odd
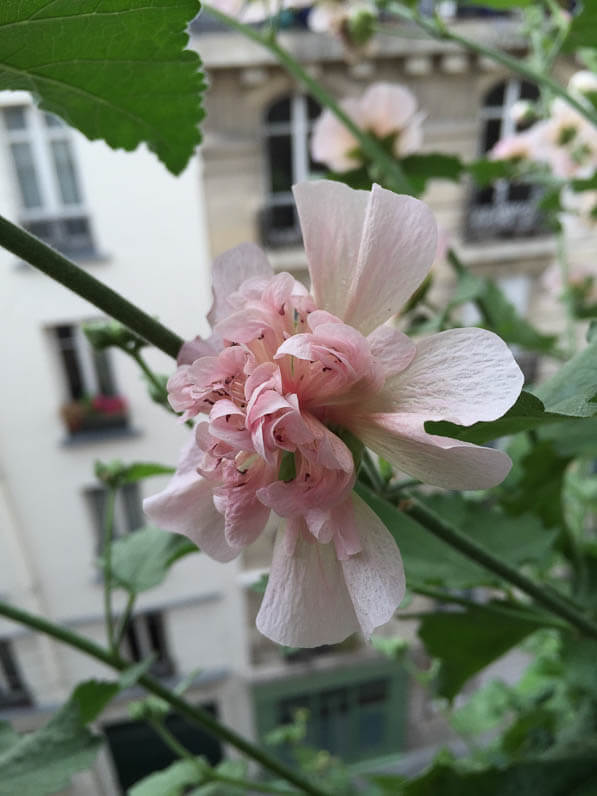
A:
POLYGON ((346 442, 358 437, 429 484, 493 486, 510 469, 504 453, 427 434, 424 422, 493 420, 522 374, 491 332, 415 343, 385 325, 433 261, 426 205, 328 181, 296 186, 295 198, 313 292, 274 276, 252 244, 216 260, 214 334, 183 346, 168 385, 176 411, 205 419, 170 484, 144 505, 219 561, 250 544, 270 511, 284 518, 257 626, 309 647, 370 635, 404 593, 392 536, 352 492, 346 442))

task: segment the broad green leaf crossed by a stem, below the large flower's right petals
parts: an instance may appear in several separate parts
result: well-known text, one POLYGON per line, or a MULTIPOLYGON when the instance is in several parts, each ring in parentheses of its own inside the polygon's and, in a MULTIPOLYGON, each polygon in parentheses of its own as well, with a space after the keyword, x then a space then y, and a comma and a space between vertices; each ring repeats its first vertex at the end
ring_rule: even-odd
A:
MULTIPOLYGON (((386 525, 400 549, 407 585, 442 585, 465 589, 497 585, 499 578, 428 533, 417 522, 363 484, 355 490, 386 525)), ((541 561, 555 542, 556 532, 546 531, 530 514, 510 517, 458 495, 433 495, 426 505, 457 526, 479 545, 513 566, 541 561)))

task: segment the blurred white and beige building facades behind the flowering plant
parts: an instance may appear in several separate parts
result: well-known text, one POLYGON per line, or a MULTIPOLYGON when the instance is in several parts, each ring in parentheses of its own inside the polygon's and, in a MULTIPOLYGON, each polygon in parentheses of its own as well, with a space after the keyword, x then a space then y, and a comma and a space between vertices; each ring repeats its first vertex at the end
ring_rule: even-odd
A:
MULTIPOLYGON (((457 4, 442 5, 457 16, 457 4)), ((482 8, 471 15, 470 6, 468 14, 453 23, 467 37, 524 53, 516 18, 482 8)), ((512 105, 537 95, 533 85, 449 44, 379 37, 358 60, 347 59, 340 40, 300 22, 281 34, 284 44, 335 96, 359 95, 374 80, 414 92, 427 114, 425 151, 474 159, 512 131, 512 105)), ((0 95, 0 212, 186 338, 207 332, 209 262, 231 246, 256 241, 276 269, 306 278, 290 188, 323 173, 309 155, 320 109, 268 53, 203 17, 191 46, 209 76, 207 118, 201 157, 176 179, 143 149, 113 152, 38 110, 28 95, 0 95)), ((572 64, 557 68, 565 82, 572 64)), ((497 277, 540 327, 557 324, 556 304, 540 284, 555 243, 534 189, 437 181, 425 199, 473 272, 497 277)), ((94 480, 94 461, 174 463, 185 429, 148 400, 132 361, 91 350, 81 324, 98 317, 94 307, 2 250, 0 268, 0 593, 101 642, 95 562, 105 492, 94 480)), ((453 276, 441 263, 434 276, 441 301, 453 276)), ((150 363, 159 372, 172 369, 159 352, 150 363)), ((532 375, 534 359, 522 364, 532 375)), ((152 479, 121 490, 117 534, 144 524, 142 492, 159 486, 152 479)), ((191 699, 250 737, 288 721, 298 706, 310 710, 313 744, 347 761, 386 758, 446 737, 418 687, 359 639, 295 651, 257 633, 253 585, 271 560, 272 542, 273 528, 226 566, 200 555, 178 563, 164 585, 139 600, 125 640, 131 659, 154 653, 156 673, 170 682, 200 669, 191 699)), ((412 622, 386 630, 415 638, 412 622)), ((0 717, 19 729, 43 724, 80 679, 106 673, 0 621, 0 717)), ((120 793, 170 761, 152 731, 129 718, 126 703, 104 714, 109 743, 94 769, 75 778, 72 796, 120 793)), ((225 752, 183 722, 172 719, 171 728, 213 761, 225 752)))

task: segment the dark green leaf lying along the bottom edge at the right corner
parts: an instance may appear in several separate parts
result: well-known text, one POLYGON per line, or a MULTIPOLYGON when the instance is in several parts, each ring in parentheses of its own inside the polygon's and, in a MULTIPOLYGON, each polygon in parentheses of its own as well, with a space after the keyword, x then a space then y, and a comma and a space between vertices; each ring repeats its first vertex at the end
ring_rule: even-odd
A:
POLYGON ((525 760, 507 768, 462 771, 445 762, 435 763, 411 780, 396 796, 583 796, 597 792, 595 761, 591 757, 525 760), (591 790, 591 787, 594 790, 591 790))

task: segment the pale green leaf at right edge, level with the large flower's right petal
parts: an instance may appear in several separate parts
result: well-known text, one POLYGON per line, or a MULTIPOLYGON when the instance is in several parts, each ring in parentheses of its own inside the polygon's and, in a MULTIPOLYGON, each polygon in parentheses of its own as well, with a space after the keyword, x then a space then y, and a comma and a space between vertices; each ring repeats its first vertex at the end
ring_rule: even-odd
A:
POLYGON ((549 412, 572 417, 597 414, 597 340, 566 362, 535 394, 549 412))

